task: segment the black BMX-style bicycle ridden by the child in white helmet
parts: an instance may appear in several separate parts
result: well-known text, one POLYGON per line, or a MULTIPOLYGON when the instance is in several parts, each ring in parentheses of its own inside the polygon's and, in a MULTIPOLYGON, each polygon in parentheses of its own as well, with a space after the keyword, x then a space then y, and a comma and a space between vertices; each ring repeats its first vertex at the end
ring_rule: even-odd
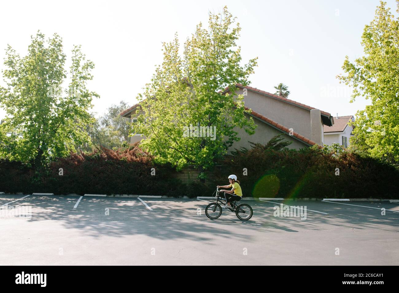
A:
MULTIPOLYGON (((216 187, 216 202, 215 203, 210 203, 209 205, 206 206, 205 208, 205 214, 208 218, 215 220, 217 218, 219 218, 222 214, 222 207, 219 205, 219 201, 220 203, 222 203, 223 205, 227 205, 227 203, 223 203, 223 201, 219 200, 219 188, 216 187)), ((215 194, 215 193, 213 193, 215 194)), ((212 196, 213 196, 212 194, 212 196)), ((240 199, 238 199, 238 201, 240 201, 240 199)), ((235 200, 233 202, 233 208, 228 208, 229 210, 231 210, 232 212, 235 212, 235 215, 237 216, 237 218, 239 218, 240 220, 249 220, 250 218, 252 218, 253 215, 253 210, 251 208, 250 205, 246 204, 246 203, 242 203, 241 205, 237 206, 237 200, 235 200)))

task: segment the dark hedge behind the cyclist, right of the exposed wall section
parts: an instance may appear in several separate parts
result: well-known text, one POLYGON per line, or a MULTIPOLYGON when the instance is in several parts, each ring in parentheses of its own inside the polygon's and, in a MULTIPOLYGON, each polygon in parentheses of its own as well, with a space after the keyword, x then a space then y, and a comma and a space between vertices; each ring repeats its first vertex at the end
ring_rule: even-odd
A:
POLYGON ((276 151, 257 145, 251 150, 236 151, 220 163, 223 169, 214 174, 213 184, 224 185, 229 174, 237 174, 244 196, 379 199, 399 197, 397 169, 348 151, 343 151, 337 156, 333 153, 323 153, 316 148, 276 151), (243 175, 244 168, 247 169, 247 175, 243 175))

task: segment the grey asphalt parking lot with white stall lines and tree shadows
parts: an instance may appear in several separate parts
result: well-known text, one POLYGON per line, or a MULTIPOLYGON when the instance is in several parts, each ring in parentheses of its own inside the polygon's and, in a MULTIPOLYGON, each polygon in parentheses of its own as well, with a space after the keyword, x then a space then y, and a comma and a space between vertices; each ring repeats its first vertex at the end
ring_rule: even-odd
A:
POLYGON ((0 195, 0 265, 397 265, 399 204, 0 195), (306 218, 275 206, 300 206, 306 218), (10 210, 25 208, 30 216, 10 210), (381 214, 385 209, 385 215, 381 214), (14 212, 14 214, 16 214, 14 212))

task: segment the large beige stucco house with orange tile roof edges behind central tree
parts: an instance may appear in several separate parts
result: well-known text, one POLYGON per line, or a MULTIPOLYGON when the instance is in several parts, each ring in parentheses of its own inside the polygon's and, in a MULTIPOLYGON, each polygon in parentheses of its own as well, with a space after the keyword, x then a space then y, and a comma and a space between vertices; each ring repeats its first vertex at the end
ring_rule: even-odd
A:
MULTIPOLYGON (((330 113, 307 106, 305 104, 259 90, 257 88, 237 84, 236 94, 243 94, 246 109, 251 109, 248 117, 253 117, 257 128, 255 134, 249 135, 241 128, 235 128, 239 142, 234 142, 229 149, 239 149, 240 147, 250 148, 249 142, 267 144, 271 138, 278 134, 284 134, 284 138, 292 144, 291 149, 301 149, 304 147, 323 145, 324 132, 323 126, 333 126, 334 119, 330 113)), ((229 92, 225 88, 223 94, 229 92)), ((138 104, 126 109, 121 116, 135 121, 137 116, 136 108, 138 104)), ((134 135, 130 143, 138 142, 143 137, 140 134, 134 135)))

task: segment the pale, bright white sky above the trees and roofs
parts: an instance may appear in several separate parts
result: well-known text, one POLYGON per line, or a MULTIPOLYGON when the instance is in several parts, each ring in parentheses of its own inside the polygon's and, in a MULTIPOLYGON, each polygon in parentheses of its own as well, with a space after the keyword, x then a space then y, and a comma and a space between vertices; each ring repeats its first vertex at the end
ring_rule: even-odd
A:
MULTIPOLYGON (((351 90, 336 75, 344 74, 345 56, 353 61, 363 55, 361 34, 378 0, 0 2, 0 69, 7 44, 26 55, 38 29, 46 37, 58 33, 68 60, 80 44, 95 63, 88 88, 100 94, 92 111, 102 114, 121 100, 135 104, 162 63, 162 42, 177 32, 183 43, 199 22, 207 26, 209 11, 225 5, 242 28, 237 44, 243 63, 258 57, 252 87, 274 93, 284 83, 290 99, 333 116, 355 115, 370 104, 362 97, 350 103, 351 90)), ((397 16, 395 1, 387 6, 397 16)), ((0 119, 4 115, 0 109, 0 119)))

